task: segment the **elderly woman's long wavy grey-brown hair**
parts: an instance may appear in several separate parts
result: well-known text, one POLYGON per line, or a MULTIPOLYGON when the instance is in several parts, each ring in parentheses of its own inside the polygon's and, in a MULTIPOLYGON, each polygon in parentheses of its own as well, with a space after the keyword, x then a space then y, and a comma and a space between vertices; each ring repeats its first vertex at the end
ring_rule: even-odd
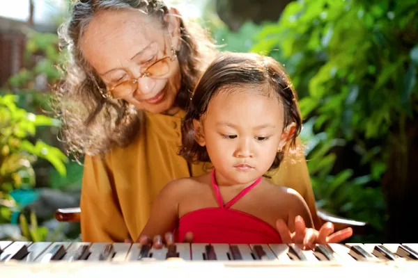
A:
MULTIPOLYGON (((113 146, 132 142, 139 131, 140 115, 124 100, 106 99, 105 85, 80 50, 84 31, 102 10, 139 9, 167 27, 169 8, 161 0, 81 0, 72 16, 59 29, 61 49, 68 51, 63 67, 65 79, 56 86, 54 112, 63 124, 63 143, 68 154, 104 154, 113 146)), ((174 15, 176 16, 176 15, 174 15)), ((174 105, 186 108, 191 92, 215 56, 215 45, 198 24, 180 19, 181 45, 177 52, 181 85, 174 105)))

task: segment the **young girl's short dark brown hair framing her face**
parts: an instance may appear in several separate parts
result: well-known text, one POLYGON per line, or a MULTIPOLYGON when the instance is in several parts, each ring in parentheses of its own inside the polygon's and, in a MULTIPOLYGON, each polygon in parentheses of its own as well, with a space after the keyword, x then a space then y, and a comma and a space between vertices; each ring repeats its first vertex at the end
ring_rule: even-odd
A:
MULTIPOLYGON (((200 120, 206 113, 210 99, 222 89, 233 90, 234 86, 264 86, 263 92, 277 97, 284 106, 284 128, 295 123, 295 134, 289 147, 295 147, 295 139, 302 127, 302 117, 297 104, 297 94, 284 68, 276 60, 258 54, 223 52, 209 65, 194 90, 193 99, 182 124, 182 147, 180 155, 187 161, 210 162, 206 147, 195 140, 193 120, 200 120)), ((235 91, 235 90, 234 90, 235 91)), ((279 167, 284 151, 278 152, 269 170, 279 167)))

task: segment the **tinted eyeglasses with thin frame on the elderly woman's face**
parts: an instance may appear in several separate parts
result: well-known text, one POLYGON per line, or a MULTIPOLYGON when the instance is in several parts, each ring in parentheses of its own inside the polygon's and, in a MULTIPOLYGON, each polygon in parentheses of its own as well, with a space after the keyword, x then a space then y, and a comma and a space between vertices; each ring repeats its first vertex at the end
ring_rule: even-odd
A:
POLYGON ((137 90, 139 79, 143 77, 150 77, 155 79, 163 79, 170 72, 170 65, 173 60, 176 60, 177 55, 174 49, 171 49, 171 56, 166 56, 160 60, 155 61, 152 65, 146 68, 145 72, 137 78, 131 78, 123 81, 109 88, 109 95, 113 99, 121 99, 127 95, 132 95, 137 90))

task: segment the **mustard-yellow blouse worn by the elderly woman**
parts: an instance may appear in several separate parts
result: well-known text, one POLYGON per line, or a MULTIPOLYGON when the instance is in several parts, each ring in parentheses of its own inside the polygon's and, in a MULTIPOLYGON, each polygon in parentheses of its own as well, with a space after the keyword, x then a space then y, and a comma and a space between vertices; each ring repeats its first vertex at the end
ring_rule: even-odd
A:
MULTIPOLYGON (((111 149, 103 159, 85 157, 80 204, 83 241, 136 240, 148 220, 153 199, 163 186, 173 179, 204 174, 208 170, 203 164, 189 167, 178 156, 184 115, 184 111, 173 116, 145 113, 139 136, 132 144, 111 149)), ((319 229, 304 158, 297 163, 282 163, 272 182, 297 190, 306 200, 319 229)))

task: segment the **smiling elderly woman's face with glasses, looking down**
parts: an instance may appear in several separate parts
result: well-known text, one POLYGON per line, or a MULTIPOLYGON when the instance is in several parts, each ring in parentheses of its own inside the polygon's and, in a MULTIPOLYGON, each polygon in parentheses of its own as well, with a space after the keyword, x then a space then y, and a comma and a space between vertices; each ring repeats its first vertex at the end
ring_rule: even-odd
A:
POLYGON ((179 23, 175 16, 166 20, 168 28, 140 10, 102 11, 88 24, 80 42, 88 63, 107 88, 113 88, 107 93, 151 113, 174 113, 180 88, 178 60, 166 58, 179 48, 179 23), (164 62, 148 70, 151 76, 140 77, 162 58, 164 62))

